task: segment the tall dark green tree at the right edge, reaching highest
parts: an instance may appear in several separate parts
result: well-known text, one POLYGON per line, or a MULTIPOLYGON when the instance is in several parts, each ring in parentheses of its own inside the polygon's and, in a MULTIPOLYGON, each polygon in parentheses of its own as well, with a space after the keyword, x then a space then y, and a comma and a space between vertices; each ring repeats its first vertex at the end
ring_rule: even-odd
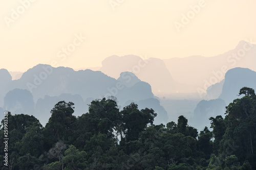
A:
POLYGON ((226 107, 225 122, 227 128, 220 142, 220 151, 225 157, 236 155, 239 162, 248 160, 255 167, 254 150, 256 141, 256 95, 251 88, 243 87, 236 99, 226 107), (229 154, 226 150, 229 149, 229 154))

